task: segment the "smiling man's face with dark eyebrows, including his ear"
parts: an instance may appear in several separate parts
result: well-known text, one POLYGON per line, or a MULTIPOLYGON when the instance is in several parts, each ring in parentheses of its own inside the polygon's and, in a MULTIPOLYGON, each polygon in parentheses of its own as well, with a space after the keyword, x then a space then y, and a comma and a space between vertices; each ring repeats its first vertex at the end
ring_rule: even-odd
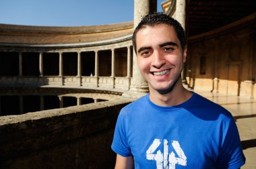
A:
POLYGON ((183 51, 174 28, 160 24, 147 26, 137 32, 137 63, 148 81, 150 92, 168 93, 181 78, 187 49, 183 51))

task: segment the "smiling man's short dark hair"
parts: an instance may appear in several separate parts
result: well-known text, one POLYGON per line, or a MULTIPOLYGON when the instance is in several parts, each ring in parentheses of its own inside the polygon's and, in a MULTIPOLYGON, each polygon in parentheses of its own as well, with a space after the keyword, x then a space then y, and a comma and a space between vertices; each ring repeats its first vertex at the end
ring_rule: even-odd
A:
POLYGON ((162 12, 156 12, 156 13, 150 13, 142 18, 142 20, 139 22, 137 27, 135 28, 133 32, 133 48, 135 50, 135 53, 137 53, 136 49, 136 35, 139 30, 145 28, 146 26, 155 26, 160 24, 166 24, 174 27, 174 30, 177 34, 178 39, 181 42, 181 48, 182 50, 185 49, 186 41, 185 41, 185 32, 183 30, 183 27, 181 26, 181 23, 177 21, 176 19, 173 19, 172 17, 166 15, 162 12))

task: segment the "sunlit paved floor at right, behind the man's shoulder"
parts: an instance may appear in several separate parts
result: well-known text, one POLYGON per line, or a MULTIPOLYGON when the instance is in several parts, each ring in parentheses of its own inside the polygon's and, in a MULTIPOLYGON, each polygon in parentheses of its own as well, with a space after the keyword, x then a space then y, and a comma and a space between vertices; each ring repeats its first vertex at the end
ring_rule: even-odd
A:
POLYGON ((197 92, 232 113, 241 137, 243 151, 247 161, 243 169, 256 168, 256 99, 232 95, 214 95, 197 92))

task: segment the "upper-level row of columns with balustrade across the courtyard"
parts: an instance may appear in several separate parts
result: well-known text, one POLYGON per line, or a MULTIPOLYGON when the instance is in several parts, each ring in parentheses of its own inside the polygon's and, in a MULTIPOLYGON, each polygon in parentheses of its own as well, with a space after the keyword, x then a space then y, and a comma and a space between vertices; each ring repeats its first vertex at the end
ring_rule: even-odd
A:
MULTIPOLYGON (((51 53, 55 53, 59 55, 59 61, 57 61, 57 55, 55 58, 53 58, 53 60, 55 60, 55 62, 59 62, 59 70, 57 70, 57 65, 56 66, 56 70, 55 72, 59 72, 59 74, 44 74, 44 69, 47 68, 47 66, 49 65, 44 65, 44 54, 46 52, 39 52, 36 53, 35 57, 39 57, 36 58, 36 62, 31 62, 30 64, 27 64, 25 66, 31 66, 32 64, 38 64, 38 68, 33 68, 32 71, 30 70, 30 72, 38 72, 38 74, 36 76, 34 75, 28 75, 26 73, 23 72, 24 68, 23 68, 23 64, 22 64, 22 52, 18 52, 18 78, 14 78, 12 80, 11 76, 8 76, 9 81, 6 80, 6 78, 0 77, 0 82, 3 82, 3 84, 7 84, 9 82, 9 84, 18 84, 18 85, 26 85, 28 83, 34 82, 34 85, 75 85, 75 86, 86 86, 86 87, 100 87, 104 84, 102 83, 108 83, 108 85, 106 85, 106 88, 116 88, 115 84, 117 84, 117 86, 119 85, 119 89, 125 89, 125 90, 129 90, 129 84, 130 84, 130 78, 132 76, 131 74, 131 59, 132 59, 132 55, 131 55, 131 50, 132 47, 131 46, 126 46, 123 48, 110 48, 108 49, 111 51, 111 58, 108 58, 109 63, 105 63, 104 60, 102 60, 102 62, 100 62, 100 58, 104 58, 104 55, 102 54, 99 58, 99 52, 101 51, 106 51, 106 50, 92 50, 92 51, 82 51, 79 48, 77 49, 77 51, 72 51, 71 53, 73 53, 72 56, 75 56, 75 53, 77 54, 77 63, 75 63, 76 61, 72 61, 73 65, 77 64, 76 66, 74 66, 74 68, 76 69, 77 67, 77 71, 76 70, 72 70, 71 68, 71 72, 76 72, 76 74, 72 74, 67 75, 65 73, 63 73, 63 70, 65 69, 65 65, 63 64, 63 54, 65 54, 65 52, 69 52, 69 51, 61 51, 61 52, 51 52, 51 53), (125 48, 127 48, 127 50, 125 51, 125 48), (116 54, 116 51, 119 51, 119 54, 116 54), (84 68, 86 69, 86 65, 84 65, 85 63, 83 63, 82 61, 82 52, 94 52, 94 60, 91 59, 90 62, 94 62, 94 70, 84 70, 84 72, 94 72, 94 74, 83 74, 82 73, 82 65, 84 66, 84 68), (121 53, 120 53, 121 52, 121 53), (125 56, 126 55, 126 56, 125 56), (122 57, 119 58, 119 60, 117 60, 117 57, 122 57), (123 57, 127 57, 127 60, 123 60, 123 57), (111 60, 111 61, 110 61, 111 60), (121 62, 121 64, 117 65, 117 62, 121 62), (101 66, 100 66, 101 64, 101 66), (106 67, 106 64, 109 65, 109 68, 106 67), (110 67, 111 64, 111 67, 110 67), (119 71, 116 67, 117 66, 122 66, 125 67, 127 70, 123 70, 120 71, 119 74, 116 73, 116 70, 119 71), (104 66, 104 67, 102 67, 104 66), (36 70, 35 70, 36 69, 36 70), (107 70, 106 70, 107 69, 107 70), (106 72, 106 71, 110 71, 109 76, 105 76, 100 74, 101 72, 106 72), (37 78, 37 80, 36 80, 37 78), (125 79, 125 82, 121 82, 122 80, 125 79), (115 82, 116 80, 119 80, 118 82, 115 82), (125 83, 125 84, 124 84, 125 83), (125 87, 121 87, 122 84, 125 85, 125 87)), ((50 53, 50 52, 48 52, 50 53)), ((70 53, 70 52, 69 52, 70 53)), ((84 55, 86 57, 86 54, 84 55)), ((7 57, 7 56, 4 56, 7 57)), ((76 58, 75 58, 76 60, 76 58)), ((50 61, 52 62, 52 61, 50 61)), ((3 63, 2 63, 3 64, 3 63)), ((69 63, 67 63, 69 64, 69 63)), ((93 65, 91 66, 91 68, 93 67, 93 65)), ((69 71, 69 69, 66 69, 67 71, 69 71)), ((34 73, 35 74, 35 73, 34 73)), ((7 85, 9 85, 7 84, 7 85)), ((29 84, 30 85, 30 84, 29 84)), ((33 85, 33 84, 32 84, 33 85)))

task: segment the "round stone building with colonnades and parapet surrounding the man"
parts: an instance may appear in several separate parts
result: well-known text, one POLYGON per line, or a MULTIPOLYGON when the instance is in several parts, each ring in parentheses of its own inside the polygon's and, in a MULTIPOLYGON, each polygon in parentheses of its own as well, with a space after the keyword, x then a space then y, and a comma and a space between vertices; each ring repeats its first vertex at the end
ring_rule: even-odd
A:
MULTIPOLYGON (((141 16, 156 11, 156 0, 134 4, 134 21, 127 23, 0 24, 0 113, 1 101, 18 103, 12 109, 18 114, 31 103, 40 107, 0 117, 0 168, 113 168, 110 143, 117 115, 148 92, 131 36, 141 16), (35 102, 26 101, 26 95, 38 93, 30 98, 35 102), (40 111, 53 94, 59 109, 40 111), (66 96, 74 96, 76 106, 63 106, 66 96), (84 105, 83 98, 92 100, 84 105)), ((255 96, 255 2, 173 0, 162 6, 187 34, 185 87, 255 96)))

